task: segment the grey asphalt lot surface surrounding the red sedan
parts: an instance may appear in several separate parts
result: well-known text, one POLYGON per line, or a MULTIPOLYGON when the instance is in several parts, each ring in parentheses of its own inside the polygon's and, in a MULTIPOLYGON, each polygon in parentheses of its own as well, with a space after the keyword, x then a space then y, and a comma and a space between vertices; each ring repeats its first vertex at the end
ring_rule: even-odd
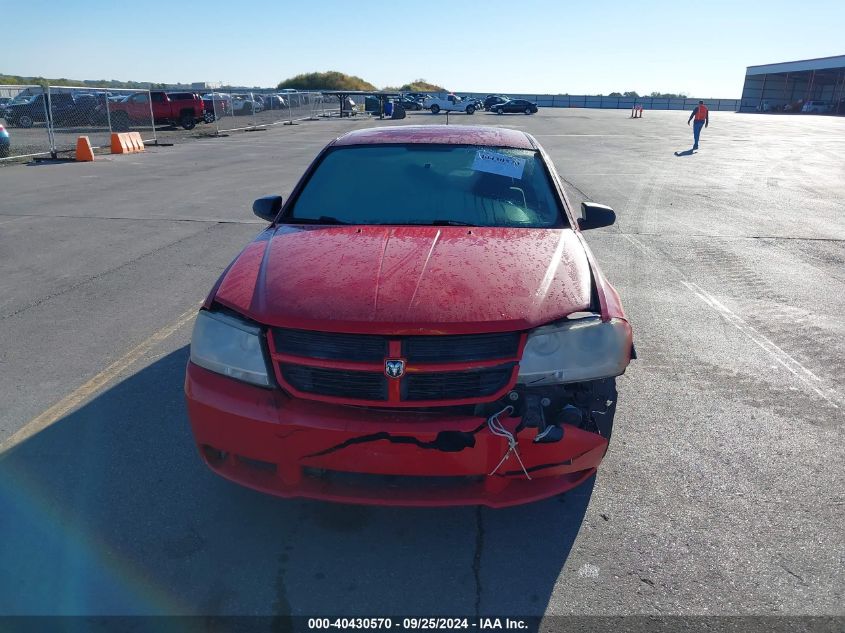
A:
POLYGON ((0 613, 845 615, 845 119, 541 110, 639 359, 594 480, 507 510, 286 501, 192 445, 190 311, 323 120, 0 170, 0 613), (185 316, 187 314, 187 317, 185 316), (51 407, 53 407, 51 409, 51 407))

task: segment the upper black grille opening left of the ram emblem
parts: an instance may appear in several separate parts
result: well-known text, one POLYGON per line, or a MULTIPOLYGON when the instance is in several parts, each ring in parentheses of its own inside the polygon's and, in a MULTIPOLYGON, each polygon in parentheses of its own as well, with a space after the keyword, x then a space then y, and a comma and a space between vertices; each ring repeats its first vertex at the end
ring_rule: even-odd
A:
POLYGON ((387 356, 387 338, 367 334, 276 329, 273 342, 280 354, 306 358, 380 362, 387 356))

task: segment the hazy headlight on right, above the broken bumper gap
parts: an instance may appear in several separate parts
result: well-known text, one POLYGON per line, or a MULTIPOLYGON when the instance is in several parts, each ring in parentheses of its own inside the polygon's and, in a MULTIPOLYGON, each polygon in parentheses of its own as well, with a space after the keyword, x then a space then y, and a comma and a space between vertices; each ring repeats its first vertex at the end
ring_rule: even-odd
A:
POLYGON ((528 335, 518 382, 561 384, 610 378, 631 360, 631 326, 590 316, 537 328, 528 335))

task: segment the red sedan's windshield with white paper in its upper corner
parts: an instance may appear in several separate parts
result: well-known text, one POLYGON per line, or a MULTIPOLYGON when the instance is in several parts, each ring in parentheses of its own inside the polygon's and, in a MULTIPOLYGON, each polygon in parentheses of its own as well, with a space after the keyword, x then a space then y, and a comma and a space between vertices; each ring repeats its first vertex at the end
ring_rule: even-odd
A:
POLYGON ((565 225, 539 152, 460 145, 331 150, 283 222, 565 225))

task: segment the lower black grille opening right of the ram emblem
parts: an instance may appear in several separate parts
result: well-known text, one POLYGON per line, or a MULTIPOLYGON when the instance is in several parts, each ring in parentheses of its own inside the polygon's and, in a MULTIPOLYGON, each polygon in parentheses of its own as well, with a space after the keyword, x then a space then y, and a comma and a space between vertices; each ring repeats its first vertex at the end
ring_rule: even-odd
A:
POLYGON ((513 363, 474 371, 407 374, 402 381, 403 400, 461 400, 490 396, 504 388, 513 363))

